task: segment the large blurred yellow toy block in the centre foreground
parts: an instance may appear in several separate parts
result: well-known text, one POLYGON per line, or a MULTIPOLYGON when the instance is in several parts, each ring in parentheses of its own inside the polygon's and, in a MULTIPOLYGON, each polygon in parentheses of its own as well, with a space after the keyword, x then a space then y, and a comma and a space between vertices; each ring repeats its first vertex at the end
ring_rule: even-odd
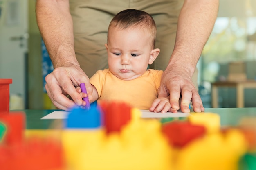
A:
MULTIPOLYGON (((138 111, 133 111, 137 115, 138 111)), ((109 135, 103 129, 63 130, 68 167, 72 170, 171 170, 171 148, 160 130, 159 121, 137 117, 120 133, 109 135)))

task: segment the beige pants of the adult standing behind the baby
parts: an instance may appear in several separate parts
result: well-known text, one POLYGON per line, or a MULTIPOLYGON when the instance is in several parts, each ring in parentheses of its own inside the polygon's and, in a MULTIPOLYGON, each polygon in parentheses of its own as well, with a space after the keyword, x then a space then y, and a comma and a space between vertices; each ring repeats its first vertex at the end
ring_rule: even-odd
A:
MULTIPOLYGON (((183 0, 70 0, 74 24, 76 58, 89 78, 97 71, 108 68, 108 25, 115 14, 124 9, 148 12, 157 25, 155 48, 161 50, 150 68, 165 70, 168 65, 177 29, 177 20, 183 0)), ((197 85, 197 74, 193 81, 197 85)))

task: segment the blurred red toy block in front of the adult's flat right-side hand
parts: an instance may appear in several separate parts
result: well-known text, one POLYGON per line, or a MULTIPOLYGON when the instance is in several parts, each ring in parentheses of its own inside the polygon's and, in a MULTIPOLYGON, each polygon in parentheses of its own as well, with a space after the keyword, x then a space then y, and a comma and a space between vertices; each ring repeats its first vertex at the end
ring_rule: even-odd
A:
POLYGON ((174 121, 163 124, 162 131, 166 135, 169 144, 183 147, 193 139, 204 135, 206 129, 204 126, 192 125, 186 121, 174 121))

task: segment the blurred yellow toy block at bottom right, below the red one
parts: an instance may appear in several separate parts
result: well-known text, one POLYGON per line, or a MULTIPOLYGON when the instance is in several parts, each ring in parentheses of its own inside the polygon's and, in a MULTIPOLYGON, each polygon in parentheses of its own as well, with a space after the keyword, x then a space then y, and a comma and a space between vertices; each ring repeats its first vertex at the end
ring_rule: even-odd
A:
POLYGON ((177 170, 238 170, 238 160, 246 152, 243 134, 235 129, 211 133, 182 148, 177 170))

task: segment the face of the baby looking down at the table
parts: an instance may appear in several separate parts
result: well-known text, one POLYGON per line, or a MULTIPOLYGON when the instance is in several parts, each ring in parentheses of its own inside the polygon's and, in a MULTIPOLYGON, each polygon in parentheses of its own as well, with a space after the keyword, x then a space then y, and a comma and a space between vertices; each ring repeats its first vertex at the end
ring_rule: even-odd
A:
POLYGON ((152 38, 141 28, 110 28, 108 31, 108 67, 122 80, 141 76, 148 68, 152 38))

